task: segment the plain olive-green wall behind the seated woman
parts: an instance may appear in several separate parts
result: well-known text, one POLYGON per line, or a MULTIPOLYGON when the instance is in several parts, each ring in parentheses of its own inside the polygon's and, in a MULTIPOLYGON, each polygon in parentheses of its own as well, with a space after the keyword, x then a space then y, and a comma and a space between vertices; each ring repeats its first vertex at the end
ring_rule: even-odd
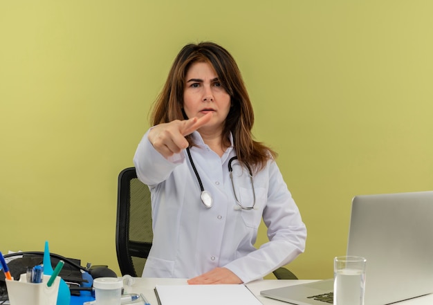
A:
MULTIPOLYGON (((0 250, 107 264, 117 177, 178 50, 225 46, 332 277, 356 194, 432 190, 433 2, 0 1, 0 250)), ((404 225, 404 224, 402 224, 404 225)), ((258 244, 266 241, 261 230, 258 244)))

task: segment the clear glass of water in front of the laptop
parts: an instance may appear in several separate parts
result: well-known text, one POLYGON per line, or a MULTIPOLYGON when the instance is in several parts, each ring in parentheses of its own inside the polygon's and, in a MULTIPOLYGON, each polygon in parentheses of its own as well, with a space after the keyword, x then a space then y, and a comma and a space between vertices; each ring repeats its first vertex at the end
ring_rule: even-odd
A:
POLYGON ((364 305, 366 261, 364 257, 335 257, 334 305, 364 305))

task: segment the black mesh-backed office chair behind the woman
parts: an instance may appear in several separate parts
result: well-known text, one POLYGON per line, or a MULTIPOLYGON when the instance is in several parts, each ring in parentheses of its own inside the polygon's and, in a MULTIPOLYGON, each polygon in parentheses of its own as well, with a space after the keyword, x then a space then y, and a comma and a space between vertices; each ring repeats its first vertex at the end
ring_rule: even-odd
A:
MULTIPOLYGON (((128 167, 118 177, 116 251, 122 275, 141 276, 153 237, 149 187, 138 180, 135 167, 128 167)), ((273 273, 277 279, 297 279, 284 267, 273 273)))

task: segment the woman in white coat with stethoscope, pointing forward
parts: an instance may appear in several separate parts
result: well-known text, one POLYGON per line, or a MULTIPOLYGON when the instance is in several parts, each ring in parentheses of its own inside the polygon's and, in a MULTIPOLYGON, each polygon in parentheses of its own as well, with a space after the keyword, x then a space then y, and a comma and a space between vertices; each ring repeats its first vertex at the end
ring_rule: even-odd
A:
POLYGON ((304 251, 306 227, 275 163, 252 139, 241 73, 212 42, 178 53, 133 162, 149 185, 154 241, 143 277, 241 284, 304 251), (253 245, 264 219, 269 241, 253 245))

